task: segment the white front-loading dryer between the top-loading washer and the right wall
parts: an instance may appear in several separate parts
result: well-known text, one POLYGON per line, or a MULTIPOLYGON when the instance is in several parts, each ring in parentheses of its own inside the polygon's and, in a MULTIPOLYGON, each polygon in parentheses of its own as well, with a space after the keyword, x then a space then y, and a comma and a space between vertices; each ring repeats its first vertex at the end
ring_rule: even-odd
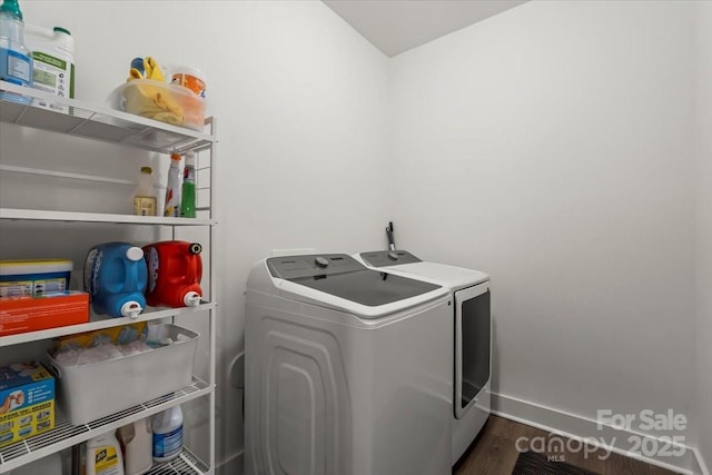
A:
POLYGON ((454 308, 453 465, 487 422, 491 412, 492 311, 490 276, 478 270, 424 263, 405 250, 377 250, 355 256, 367 267, 442 285, 454 308))

